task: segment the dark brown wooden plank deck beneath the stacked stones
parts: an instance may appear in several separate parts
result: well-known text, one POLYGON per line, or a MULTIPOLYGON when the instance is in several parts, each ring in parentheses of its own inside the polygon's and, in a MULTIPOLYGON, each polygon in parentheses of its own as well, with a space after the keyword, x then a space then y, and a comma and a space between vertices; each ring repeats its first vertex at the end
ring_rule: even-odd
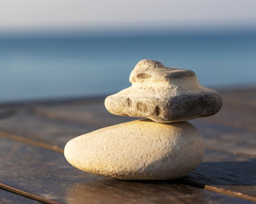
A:
MULTIPOLYGON (((218 115, 191 121, 206 139, 204 162, 187 177, 163 182, 103 178, 67 163, 69 139, 135 120, 109 114, 103 98, 0 106, 0 187, 46 203, 256 201, 255 93, 225 91, 218 115)), ((4 195, 0 202, 20 196, 4 195)))

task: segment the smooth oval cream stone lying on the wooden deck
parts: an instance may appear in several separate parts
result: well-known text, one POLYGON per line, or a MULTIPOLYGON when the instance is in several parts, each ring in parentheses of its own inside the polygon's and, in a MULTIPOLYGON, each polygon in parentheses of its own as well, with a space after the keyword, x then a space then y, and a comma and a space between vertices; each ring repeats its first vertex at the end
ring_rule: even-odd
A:
POLYGON ((161 124, 148 119, 104 127, 71 139, 64 154, 73 167, 129 180, 180 178, 204 156, 201 133, 189 122, 161 124))

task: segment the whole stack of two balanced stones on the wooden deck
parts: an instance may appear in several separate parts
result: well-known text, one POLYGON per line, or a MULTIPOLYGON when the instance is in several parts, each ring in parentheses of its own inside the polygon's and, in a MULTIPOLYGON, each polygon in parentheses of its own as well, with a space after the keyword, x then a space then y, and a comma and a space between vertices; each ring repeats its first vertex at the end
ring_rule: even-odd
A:
POLYGON ((130 82, 130 88, 108 96, 105 106, 115 115, 148 119, 70 140, 67 161, 85 172, 119 179, 163 180, 191 173, 205 148, 201 133, 186 121, 217 113, 221 96, 202 87, 193 71, 148 59, 131 71, 130 82))

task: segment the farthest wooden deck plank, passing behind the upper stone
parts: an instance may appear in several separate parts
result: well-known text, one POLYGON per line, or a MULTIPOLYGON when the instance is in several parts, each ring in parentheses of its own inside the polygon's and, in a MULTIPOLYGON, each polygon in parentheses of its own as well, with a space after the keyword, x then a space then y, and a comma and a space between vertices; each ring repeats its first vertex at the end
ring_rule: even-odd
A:
MULTIPOLYGON (((222 91, 224 105, 215 116, 204 118, 208 122, 256 130, 256 88, 237 91, 222 91)), ((120 122, 128 122, 131 117, 113 116, 106 111, 104 99, 78 100, 61 105, 37 105, 34 113, 40 116, 105 127, 120 122)))

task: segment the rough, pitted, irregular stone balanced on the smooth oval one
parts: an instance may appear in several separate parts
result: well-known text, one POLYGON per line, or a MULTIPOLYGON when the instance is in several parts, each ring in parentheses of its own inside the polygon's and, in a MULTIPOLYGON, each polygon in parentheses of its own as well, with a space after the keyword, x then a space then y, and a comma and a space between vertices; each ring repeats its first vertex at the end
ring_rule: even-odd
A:
POLYGON ((147 117, 154 122, 183 122, 212 116, 222 97, 198 82, 194 71, 166 67, 158 61, 141 60, 131 71, 130 88, 105 99, 114 115, 147 117))

